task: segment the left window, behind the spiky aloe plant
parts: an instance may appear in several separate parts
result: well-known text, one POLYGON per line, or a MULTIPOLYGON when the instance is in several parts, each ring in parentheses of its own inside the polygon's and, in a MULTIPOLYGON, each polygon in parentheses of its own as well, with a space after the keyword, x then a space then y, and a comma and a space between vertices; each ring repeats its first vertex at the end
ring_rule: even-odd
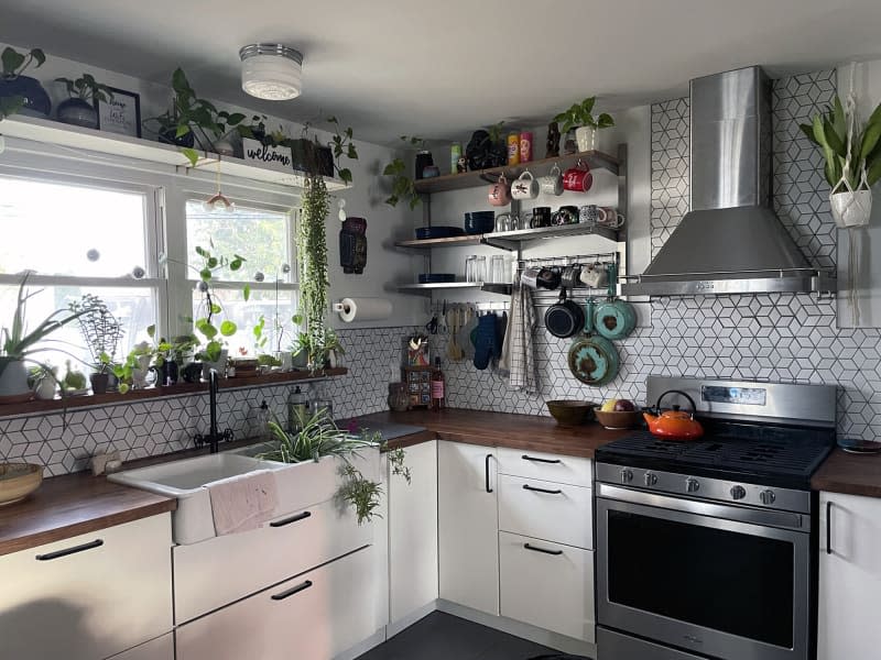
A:
MULTIPOLYGON (((29 288, 42 290, 28 302, 29 329, 83 294, 94 294, 126 329, 115 355, 124 359, 146 338, 146 327, 161 322, 157 300, 164 285, 152 265, 155 218, 153 188, 0 173, 0 322, 12 319, 22 272, 33 271, 29 288), (142 277, 132 275, 135 268, 142 277)), ((40 360, 53 366, 72 358, 89 363, 83 343, 72 323, 52 334, 40 360)))

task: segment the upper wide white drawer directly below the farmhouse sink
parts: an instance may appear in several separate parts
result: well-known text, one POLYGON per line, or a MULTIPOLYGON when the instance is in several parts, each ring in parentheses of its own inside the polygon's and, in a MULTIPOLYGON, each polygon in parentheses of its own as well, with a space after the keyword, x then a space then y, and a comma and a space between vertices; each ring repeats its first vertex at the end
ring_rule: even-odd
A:
POLYGON ((352 508, 334 501, 272 519, 260 529, 174 548, 175 623, 181 625, 372 542, 352 508), (275 527, 273 527, 275 525, 275 527))

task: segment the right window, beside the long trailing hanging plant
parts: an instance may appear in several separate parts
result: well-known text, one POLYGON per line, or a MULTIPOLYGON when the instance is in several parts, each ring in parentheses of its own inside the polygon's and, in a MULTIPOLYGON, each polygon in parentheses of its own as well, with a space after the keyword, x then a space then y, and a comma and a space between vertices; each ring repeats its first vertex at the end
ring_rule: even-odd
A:
MULTIPOLYGON (((296 274, 293 267, 292 213, 282 208, 257 208, 237 205, 235 210, 206 210, 202 199, 186 202, 187 265, 193 290, 193 317, 204 317, 203 295, 196 277, 204 260, 196 248, 211 254, 244 258, 239 271, 224 268, 211 283, 219 298, 220 320, 236 323, 235 336, 227 339, 230 355, 273 353, 286 349, 293 340, 291 321, 296 311, 296 274), (213 245, 213 246, 211 246, 213 245), (262 282, 260 282, 262 279, 262 282), (243 287, 250 288, 244 300, 243 287), (264 319, 265 344, 255 346, 253 328, 264 319)), ((217 326, 217 323, 215 323, 217 326)))

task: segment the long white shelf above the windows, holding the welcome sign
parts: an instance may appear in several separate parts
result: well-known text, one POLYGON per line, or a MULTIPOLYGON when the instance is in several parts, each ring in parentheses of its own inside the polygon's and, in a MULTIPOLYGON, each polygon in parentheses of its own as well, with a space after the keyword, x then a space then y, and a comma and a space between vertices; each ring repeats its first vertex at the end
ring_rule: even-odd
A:
MULTIPOLYGON (((227 176, 296 188, 302 188, 304 182, 303 173, 292 168, 278 165, 254 165, 235 156, 221 156, 199 150, 196 150, 199 160, 193 167, 187 157, 181 153, 181 148, 171 144, 22 114, 7 118, 0 122, 0 135, 171 165, 185 174, 196 169, 207 169, 214 173, 219 164, 220 174, 227 176)), ((348 188, 345 182, 337 178, 324 177, 324 180, 328 190, 348 188)))

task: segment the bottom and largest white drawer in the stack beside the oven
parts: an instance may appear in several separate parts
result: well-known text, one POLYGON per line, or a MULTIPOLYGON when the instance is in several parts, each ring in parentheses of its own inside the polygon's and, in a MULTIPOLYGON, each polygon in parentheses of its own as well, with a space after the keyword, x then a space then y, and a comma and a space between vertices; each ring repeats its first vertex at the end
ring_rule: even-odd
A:
POLYGON ((501 613, 594 642, 594 553, 499 532, 501 613))

